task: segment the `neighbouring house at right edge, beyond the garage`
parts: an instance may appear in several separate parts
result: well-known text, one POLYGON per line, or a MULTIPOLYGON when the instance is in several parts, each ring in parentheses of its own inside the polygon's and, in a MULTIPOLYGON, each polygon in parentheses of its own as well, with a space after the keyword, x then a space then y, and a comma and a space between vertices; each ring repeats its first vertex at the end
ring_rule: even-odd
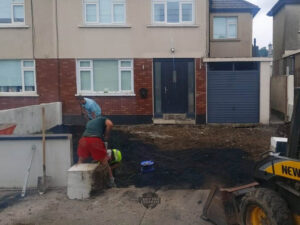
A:
POLYGON ((271 108, 290 120, 294 87, 300 87, 300 0, 279 0, 268 16, 273 17, 271 108))

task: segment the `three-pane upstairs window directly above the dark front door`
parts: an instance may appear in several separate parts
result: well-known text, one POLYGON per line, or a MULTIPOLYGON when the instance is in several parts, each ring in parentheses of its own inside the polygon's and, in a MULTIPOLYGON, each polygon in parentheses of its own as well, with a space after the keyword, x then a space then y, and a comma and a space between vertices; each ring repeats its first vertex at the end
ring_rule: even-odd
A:
POLYGON ((194 23, 193 0, 152 0, 154 24, 194 23))

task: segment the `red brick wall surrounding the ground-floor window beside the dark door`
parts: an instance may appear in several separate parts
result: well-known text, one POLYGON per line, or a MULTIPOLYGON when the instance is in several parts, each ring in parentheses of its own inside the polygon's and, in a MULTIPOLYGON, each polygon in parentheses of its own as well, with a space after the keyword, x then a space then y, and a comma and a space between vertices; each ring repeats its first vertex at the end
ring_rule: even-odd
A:
MULTIPOLYGON (((60 60, 60 95, 65 115, 80 115, 80 107, 75 94, 76 61, 60 60)), ((136 96, 124 97, 89 97, 94 99, 104 115, 152 115, 152 59, 134 60, 134 91, 136 96), (140 88, 148 89, 148 97, 142 99, 140 88)))

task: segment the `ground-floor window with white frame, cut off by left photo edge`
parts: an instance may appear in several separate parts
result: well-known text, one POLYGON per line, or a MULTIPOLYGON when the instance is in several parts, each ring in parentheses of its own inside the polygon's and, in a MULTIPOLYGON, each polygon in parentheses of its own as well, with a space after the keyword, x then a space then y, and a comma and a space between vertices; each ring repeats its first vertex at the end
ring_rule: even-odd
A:
POLYGON ((34 60, 0 60, 0 92, 36 92, 34 60))

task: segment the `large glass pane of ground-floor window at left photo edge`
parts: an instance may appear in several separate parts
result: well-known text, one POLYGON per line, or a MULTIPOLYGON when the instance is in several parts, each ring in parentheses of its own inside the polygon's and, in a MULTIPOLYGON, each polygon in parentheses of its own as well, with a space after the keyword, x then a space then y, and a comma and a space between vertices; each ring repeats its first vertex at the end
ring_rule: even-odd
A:
POLYGON ((22 91, 21 61, 0 61, 0 87, 5 92, 22 91))

